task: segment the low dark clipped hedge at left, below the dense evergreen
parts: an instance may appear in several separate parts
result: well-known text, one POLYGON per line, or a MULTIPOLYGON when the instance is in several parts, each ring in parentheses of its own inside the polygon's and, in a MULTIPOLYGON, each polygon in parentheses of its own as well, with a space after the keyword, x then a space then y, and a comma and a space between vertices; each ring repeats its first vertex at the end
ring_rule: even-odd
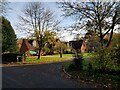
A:
MULTIPOLYGON (((22 54, 20 53, 6 53, 2 54, 2 62, 17 62, 17 56, 21 56, 22 54)), ((22 60, 22 58, 20 59, 22 60)))

